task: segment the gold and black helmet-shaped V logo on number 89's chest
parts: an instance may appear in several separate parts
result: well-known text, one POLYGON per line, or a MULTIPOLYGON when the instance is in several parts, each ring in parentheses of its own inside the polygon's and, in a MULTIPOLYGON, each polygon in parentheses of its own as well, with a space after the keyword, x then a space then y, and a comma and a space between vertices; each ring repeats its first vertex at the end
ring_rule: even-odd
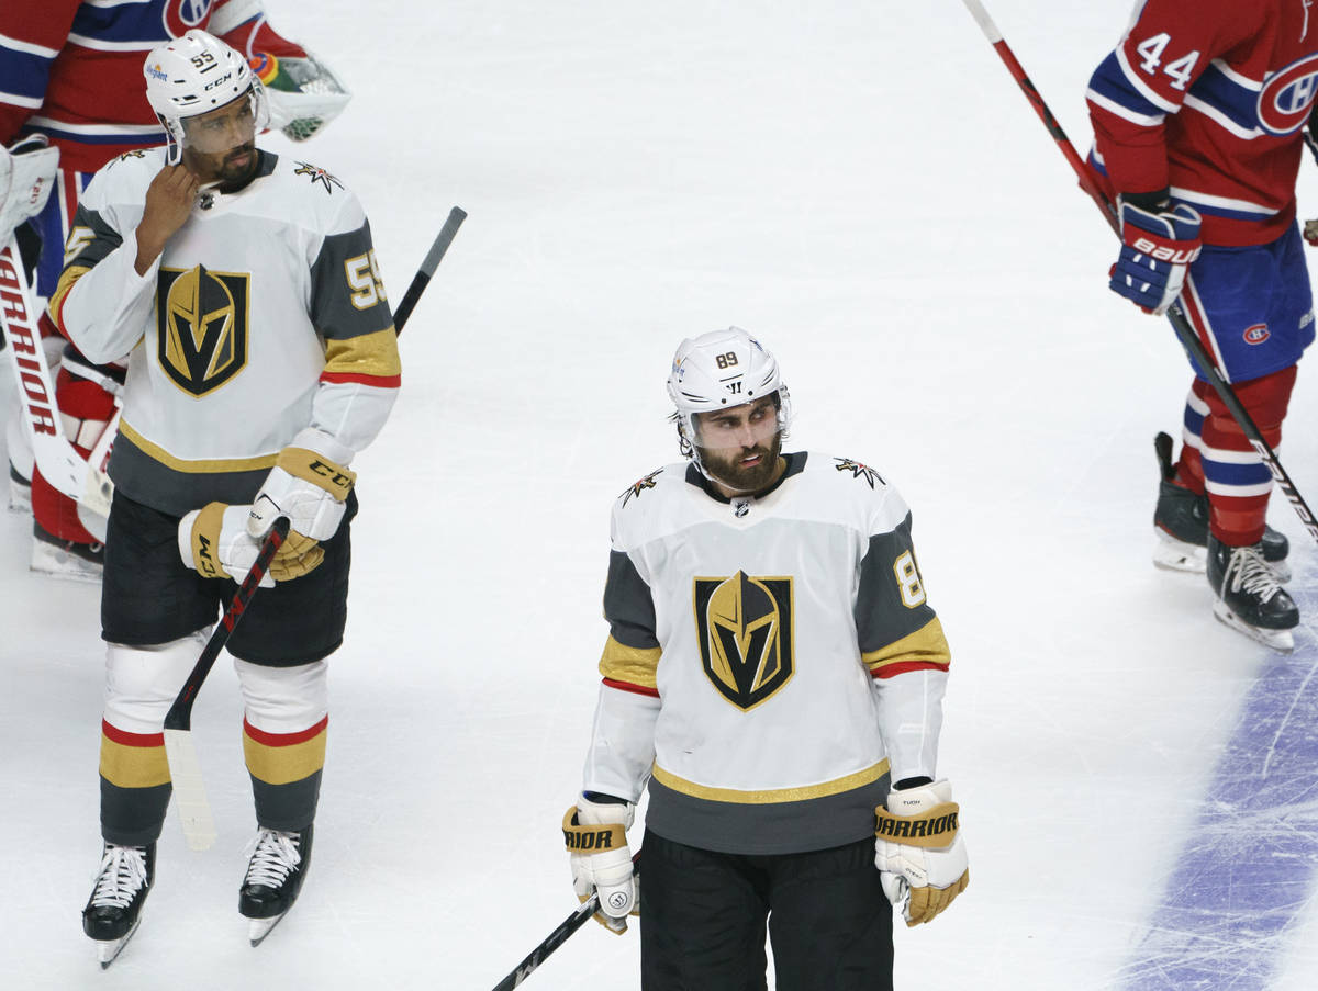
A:
POLYGON ((795 673, 792 580, 696 579, 700 662, 714 688, 739 709, 754 709, 795 673))

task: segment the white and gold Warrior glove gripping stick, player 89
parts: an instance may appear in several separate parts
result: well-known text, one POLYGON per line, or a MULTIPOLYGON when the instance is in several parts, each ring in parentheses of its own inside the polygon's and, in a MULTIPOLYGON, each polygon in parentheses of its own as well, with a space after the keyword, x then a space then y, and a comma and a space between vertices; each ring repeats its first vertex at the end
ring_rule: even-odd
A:
POLYGON ((583 795, 563 816, 572 887, 580 901, 600 892, 594 919, 612 933, 627 932, 627 916, 641 915, 641 879, 633 871, 627 847, 635 810, 630 801, 597 803, 583 795))

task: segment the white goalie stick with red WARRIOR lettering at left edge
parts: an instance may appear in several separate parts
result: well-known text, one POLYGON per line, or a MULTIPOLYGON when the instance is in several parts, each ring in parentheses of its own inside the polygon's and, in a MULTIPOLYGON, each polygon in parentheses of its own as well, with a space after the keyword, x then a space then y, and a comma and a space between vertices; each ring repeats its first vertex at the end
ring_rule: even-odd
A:
POLYGON ((11 368, 22 406, 22 423, 32 440, 33 459, 47 482, 76 501, 86 485, 87 463, 69 443, 59 410, 55 409, 50 366, 41 348, 32 290, 13 233, 0 248, 0 331, 13 356, 11 368))

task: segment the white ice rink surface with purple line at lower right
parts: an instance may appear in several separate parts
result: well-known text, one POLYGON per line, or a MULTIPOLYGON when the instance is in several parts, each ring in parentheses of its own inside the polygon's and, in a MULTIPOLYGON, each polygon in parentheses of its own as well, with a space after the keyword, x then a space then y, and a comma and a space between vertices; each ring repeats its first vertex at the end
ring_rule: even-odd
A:
MULTIPOLYGON (((912 505, 952 643, 940 763, 973 883, 896 933, 898 987, 1318 984, 1314 546, 1275 499, 1304 615, 1290 658, 1214 622, 1202 579, 1151 565, 1151 441, 1178 434, 1188 366, 1106 289, 1110 231, 961 3, 266 7, 355 99, 308 144, 264 144, 360 195, 395 300, 448 208, 471 215, 353 465, 312 868, 249 948, 221 659, 194 714, 219 842, 187 851, 171 813, 142 928, 99 971, 79 926, 99 593, 29 576, 11 514, 0 987, 493 987, 575 905, 559 821, 597 692, 610 502, 676 457, 677 341, 730 323, 784 366, 789 448, 871 464, 912 505)), ((1130 7, 990 5, 1082 150, 1085 82, 1130 7)), ((1300 212, 1318 215, 1310 163, 1300 212)), ((1311 502, 1315 412, 1302 372, 1280 452, 1311 502)), ((635 933, 589 925, 527 987, 638 984, 635 933)))

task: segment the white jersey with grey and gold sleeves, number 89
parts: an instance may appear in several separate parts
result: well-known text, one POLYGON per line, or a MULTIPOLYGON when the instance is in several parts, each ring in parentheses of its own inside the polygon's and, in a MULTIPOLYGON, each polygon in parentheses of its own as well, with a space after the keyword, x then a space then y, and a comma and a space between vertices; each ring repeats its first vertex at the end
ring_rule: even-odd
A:
POLYGON ((874 832, 894 774, 934 776, 948 644, 878 472, 787 455, 758 498, 692 465, 616 502, 610 634, 584 791, 676 842, 741 854, 874 832))

